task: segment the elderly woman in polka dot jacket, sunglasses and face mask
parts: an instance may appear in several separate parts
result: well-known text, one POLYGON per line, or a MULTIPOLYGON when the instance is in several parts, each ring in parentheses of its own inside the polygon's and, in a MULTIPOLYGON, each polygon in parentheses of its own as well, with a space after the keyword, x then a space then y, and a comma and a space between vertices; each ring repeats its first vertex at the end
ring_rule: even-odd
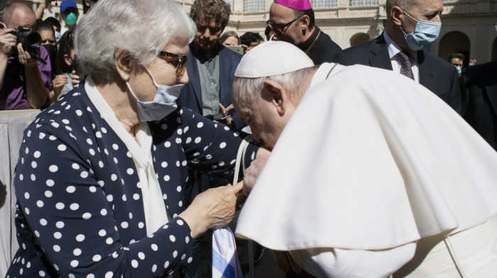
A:
POLYGON ((99 1, 82 18, 90 75, 25 131, 7 277, 160 277, 191 262, 192 238, 231 221, 241 185, 185 207, 187 166, 228 177, 241 143, 175 104, 194 34, 170 0, 99 1))

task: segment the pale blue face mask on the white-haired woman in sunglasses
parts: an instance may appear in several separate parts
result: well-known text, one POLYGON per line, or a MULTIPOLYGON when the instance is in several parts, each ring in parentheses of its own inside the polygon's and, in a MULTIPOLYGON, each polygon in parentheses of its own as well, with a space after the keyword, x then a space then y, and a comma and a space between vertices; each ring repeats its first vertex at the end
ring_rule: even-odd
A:
POLYGON ((128 85, 129 91, 136 99, 136 104, 138 106, 138 115, 140 115, 140 120, 142 122, 145 121, 159 121, 168 116, 170 113, 178 109, 178 104, 176 104, 176 99, 180 96, 180 91, 185 84, 177 84, 174 86, 168 85, 159 85, 153 79, 152 74, 145 67, 145 70, 150 75, 153 84, 157 87, 157 94, 155 94, 155 98, 153 101, 141 101, 136 95, 133 93, 131 86, 128 85))

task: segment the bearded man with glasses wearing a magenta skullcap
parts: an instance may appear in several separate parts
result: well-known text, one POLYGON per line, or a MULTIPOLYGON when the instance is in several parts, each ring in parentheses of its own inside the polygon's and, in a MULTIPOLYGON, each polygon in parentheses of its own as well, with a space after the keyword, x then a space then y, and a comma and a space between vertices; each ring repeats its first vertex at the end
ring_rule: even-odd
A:
POLYGON ((300 48, 315 63, 331 62, 342 48, 315 26, 314 10, 309 0, 275 0, 266 22, 278 40, 300 48))

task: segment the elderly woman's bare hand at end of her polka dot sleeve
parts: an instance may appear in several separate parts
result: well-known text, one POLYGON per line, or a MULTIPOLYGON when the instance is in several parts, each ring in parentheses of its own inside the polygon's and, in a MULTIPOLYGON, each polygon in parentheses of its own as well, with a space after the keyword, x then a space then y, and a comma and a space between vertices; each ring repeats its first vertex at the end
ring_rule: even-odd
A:
POLYGON ((236 195, 243 183, 212 188, 193 199, 192 204, 180 214, 192 230, 192 237, 204 233, 209 228, 225 226, 233 219, 236 209, 236 195))

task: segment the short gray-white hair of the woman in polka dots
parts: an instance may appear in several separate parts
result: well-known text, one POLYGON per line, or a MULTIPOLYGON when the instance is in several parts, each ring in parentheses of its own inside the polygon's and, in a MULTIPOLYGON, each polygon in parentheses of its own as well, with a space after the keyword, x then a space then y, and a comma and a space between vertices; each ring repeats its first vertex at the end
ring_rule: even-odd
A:
POLYGON ((147 65, 172 38, 190 43, 196 30, 173 0, 98 1, 77 25, 77 59, 93 77, 111 81, 116 74, 114 53, 119 48, 127 50, 139 65, 147 65))

